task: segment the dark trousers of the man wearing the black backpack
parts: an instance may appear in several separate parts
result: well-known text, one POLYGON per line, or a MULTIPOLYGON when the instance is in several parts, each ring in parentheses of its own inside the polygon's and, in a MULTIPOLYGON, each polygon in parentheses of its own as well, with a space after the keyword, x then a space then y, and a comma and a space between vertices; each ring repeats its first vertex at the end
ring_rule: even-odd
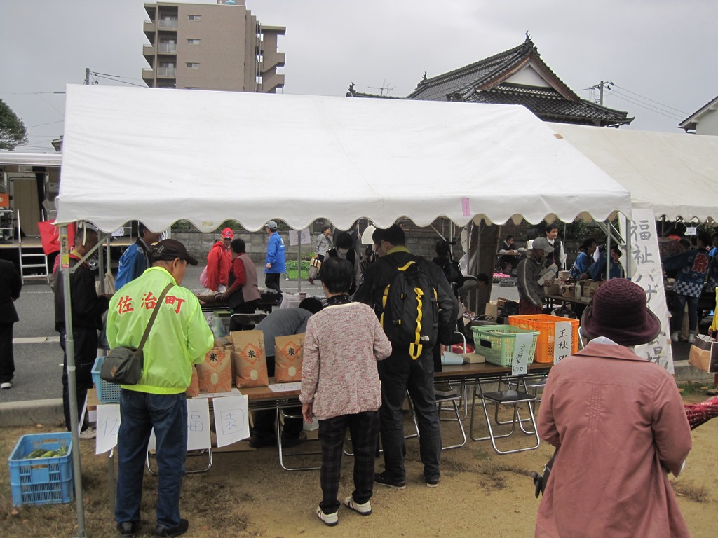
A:
POLYGON ((377 367, 381 379, 379 432, 384 449, 386 476, 393 482, 406 481, 402 407, 408 390, 416 412, 416 422, 419 424, 419 454, 421 463, 424 463, 424 478, 439 478, 442 435, 434 395, 432 349, 424 349, 416 360, 412 360, 406 351, 393 351, 389 357, 379 361, 377 367))

